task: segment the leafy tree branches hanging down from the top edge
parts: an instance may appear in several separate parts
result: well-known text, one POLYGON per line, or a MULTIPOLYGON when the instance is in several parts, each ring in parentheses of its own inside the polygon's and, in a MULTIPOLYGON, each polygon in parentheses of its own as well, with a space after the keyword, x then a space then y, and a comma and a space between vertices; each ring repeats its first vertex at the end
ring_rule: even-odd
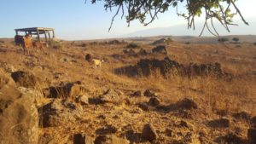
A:
POLYGON ((132 20, 139 20, 144 26, 152 23, 160 13, 165 13, 169 9, 175 9, 178 16, 182 16, 188 21, 188 28, 195 29, 196 16, 204 15, 205 23, 202 32, 207 28, 212 35, 218 36, 218 32, 213 24, 213 20, 224 26, 230 32, 230 25, 236 25, 233 22, 235 15, 239 15, 241 20, 248 25, 236 6, 238 0, 91 0, 91 3, 103 2, 105 10, 112 11, 116 8, 109 30, 113 25, 114 18, 121 13, 128 26, 132 20), (186 10, 179 12, 180 7, 186 10), (235 10, 231 10, 235 9, 235 10))

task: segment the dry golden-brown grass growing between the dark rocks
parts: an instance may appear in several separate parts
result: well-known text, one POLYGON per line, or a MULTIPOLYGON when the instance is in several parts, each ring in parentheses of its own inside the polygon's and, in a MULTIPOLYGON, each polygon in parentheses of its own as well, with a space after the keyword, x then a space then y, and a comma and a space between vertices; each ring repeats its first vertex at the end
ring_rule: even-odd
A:
MULTIPOLYGON (((136 42, 140 43, 140 42, 136 42)), ((47 49, 44 53, 34 53, 32 56, 20 55, 16 53, 15 46, 9 45, 6 49, 8 53, 0 53, 0 62, 8 62, 17 70, 29 71, 39 78, 39 86, 36 88, 39 94, 49 86, 58 86, 70 82, 81 81, 88 94, 95 98, 107 89, 117 89, 124 93, 124 96, 131 101, 130 104, 120 104, 118 106, 97 106, 89 105, 84 107, 87 117, 83 118, 78 125, 67 124, 61 128, 45 129, 43 133, 70 135, 72 133, 84 131, 84 133, 95 136, 94 132, 106 124, 113 124, 118 128, 125 125, 132 125, 132 129, 139 132, 145 123, 154 123, 158 130, 181 120, 172 112, 141 112, 137 103, 148 102, 146 97, 131 97, 131 93, 137 90, 144 92, 145 89, 152 89, 160 96, 163 105, 170 105, 183 98, 195 101, 200 107, 200 111, 195 113, 196 118, 186 119, 193 124, 195 131, 204 130, 208 137, 215 138, 217 135, 224 135, 226 130, 212 130, 207 128, 208 119, 219 118, 218 111, 226 113, 246 111, 251 115, 256 114, 256 49, 248 43, 242 43, 241 48, 227 49, 221 44, 182 44, 171 43, 167 46, 168 55, 172 60, 184 65, 194 63, 215 63, 221 64, 224 72, 235 75, 232 81, 221 78, 194 77, 184 78, 175 73, 163 78, 159 70, 151 72, 148 77, 128 77, 116 75, 113 70, 121 66, 135 65, 142 58, 156 58, 162 60, 165 55, 148 55, 143 57, 129 57, 123 54, 126 44, 99 44, 91 42, 64 42, 62 49, 47 49), (86 44, 84 44, 86 43, 86 44), (84 44, 83 47, 80 45, 84 44), (91 54, 96 58, 104 59, 101 68, 92 68, 84 60, 84 55, 91 54), (120 55, 119 58, 113 56, 120 55), (61 60, 66 58, 67 61, 61 60), (32 65, 28 65, 28 63, 32 65), (249 73, 249 74, 248 74, 249 73), (106 115, 107 118, 101 120, 99 115, 106 115), (118 119, 113 119, 114 116, 118 119), (166 120, 165 118, 168 118, 166 120), (86 128, 86 129, 85 129, 86 128), (61 133, 57 133, 61 131, 61 133)), ((154 48, 147 43, 140 43, 143 49, 148 52, 154 48)), ((137 50, 137 49, 136 49, 137 50)), ((1 77, 0 77, 1 78, 1 77)), ((0 79, 0 85, 4 82, 0 79)), ((38 107, 43 106, 50 100, 38 98, 38 107)), ((225 115, 231 118, 229 114, 225 115)), ((230 128, 241 127, 242 135, 246 135, 248 125, 246 123, 234 124, 230 128)), ((176 128, 172 128, 174 131, 176 128)), ((180 128, 177 128, 180 129, 180 128)), ((178 131, 178 130, 177 130, 178 131)), ((196 133, 196 132, 195 132, 196 133)), ((165 136, 164 136, 165 137, 165 136)), ((165 137, 167 140, 168 138, 165 137)), ((210 139, 210 138, 209 138, 210 139)))

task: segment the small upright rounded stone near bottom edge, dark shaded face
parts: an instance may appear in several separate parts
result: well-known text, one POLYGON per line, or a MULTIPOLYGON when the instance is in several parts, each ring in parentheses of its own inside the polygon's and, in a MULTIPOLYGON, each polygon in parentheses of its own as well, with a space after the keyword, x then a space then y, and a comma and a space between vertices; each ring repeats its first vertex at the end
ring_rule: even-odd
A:
POLYGON ((143 139, 148 140, 148 141, 154 141, 158 138, 158 135, 155 132, 153 125, 151 125, 151 124, 144 125, 142 137, 143 137, 143 139))

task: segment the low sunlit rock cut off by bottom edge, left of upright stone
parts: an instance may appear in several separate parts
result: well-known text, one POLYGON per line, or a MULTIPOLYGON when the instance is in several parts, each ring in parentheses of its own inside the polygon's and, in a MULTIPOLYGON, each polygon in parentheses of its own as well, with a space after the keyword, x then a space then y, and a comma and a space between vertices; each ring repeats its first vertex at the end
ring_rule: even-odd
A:
POLYGON ((130 142, 119 138, 116 135, 99 135, 94 141, 95 144, 129 144, 130 142))

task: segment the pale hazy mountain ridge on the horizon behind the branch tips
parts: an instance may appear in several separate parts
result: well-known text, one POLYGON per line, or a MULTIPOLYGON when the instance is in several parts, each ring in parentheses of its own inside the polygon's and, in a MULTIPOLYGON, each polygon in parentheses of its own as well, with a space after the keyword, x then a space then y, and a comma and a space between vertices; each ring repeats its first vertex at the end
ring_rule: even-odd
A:
MULTIPOLYGON (((239 26, 230 26, 230 32, 227 32, 223 26, 220 24, 216 24, 215 27, 219 32, 220 36, 227 36, 227 35, 243 35, 240 36, 241 42, 255 42, 256 39, 253 35, 256 35, 256 18, 251 17, 247 18, 247 21, 249 22, 249 26, 244 25, 241 23, 240 20, 238 20, 237 24, 239 26)), ((170 27, 159 27, 159 28, 152 28, 148 30, 138 31, 138 32, 132 32, 130 34, 125 35, 124 37, 152 37, 152 36, 182 36, 182 37, 175 37, 177 41, 183 41, 188 40, 189 42, 197 41, 197 42, 212 42, 212 35, 205 30, 203 33, 203 36, 207 37, 198 37, 201 33, 202 23, 198 23, 195 27, 195 31, 191 29, 187 29, 186 25, 179 25, 179 26, 170 26, 170 27), (183 37, 188 36, 188 37, 183 37), (190 37, 195 36, 195 37, 190 37)), ((232 39, 232 37, 235 36, 228 36, 228 38, 232 39)), ((217 38, 215 38, 217 39, 217 38)))

